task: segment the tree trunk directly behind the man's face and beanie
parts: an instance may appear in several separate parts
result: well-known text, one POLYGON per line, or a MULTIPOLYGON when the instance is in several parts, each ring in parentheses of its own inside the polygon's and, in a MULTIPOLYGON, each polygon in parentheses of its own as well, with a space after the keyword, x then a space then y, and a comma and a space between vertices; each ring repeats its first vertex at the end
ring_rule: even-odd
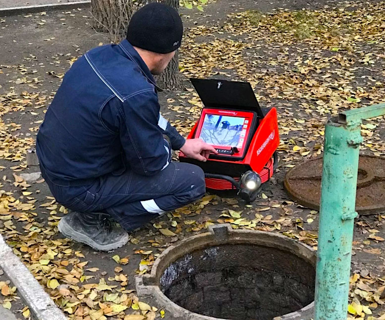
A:
MULTIPOLYGON (((162 2, 173 7, 176 11, 179 11, 179 0, 161 0, 153 2, 162 2)), ((175 53, 175 57, 170 61, 162 74, 156 78, 156 82, 158 86, 163 89, 175 89, 179 87, 180 79, 178 51, 175 53)))

